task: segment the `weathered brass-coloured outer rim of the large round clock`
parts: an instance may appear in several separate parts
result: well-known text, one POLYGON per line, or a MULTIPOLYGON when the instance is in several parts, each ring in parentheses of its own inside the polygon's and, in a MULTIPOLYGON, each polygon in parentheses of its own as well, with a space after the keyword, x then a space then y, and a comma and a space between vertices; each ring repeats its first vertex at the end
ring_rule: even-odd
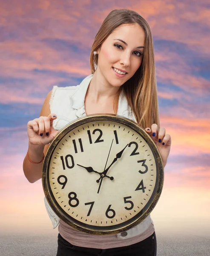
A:
MULTIPOLYGON (((55 211, 56 215, 58 215, 58 217, 60 219, 62 219, 65 222, 67 221, 70 226, 76 228, 77 230, 80 230, 80 231, 83 231, 83 232, 86 232, 86 233, 90 233, 90 234, 95 234, 95 235, 110 235, 110 234, 121 233, 123 231, 126 231, 126 230, 132 228, 132 227, 135 227, 141 221, 144 221, 144 219, 147 218, 147 216, 150 214, 150 212, 152 212, 152 210, 154 209, 155 205, 157 204, 157 202, 160 198, 161 191, 162 191, 162 188, 163 188, 163 182, 164 182, 163 162, 162 162, 162 159, 161 159, 161 155, 158 151, 158 148, 156 147, 155 143, 150 138, 150 136, 146 133, 146 131, 144 131, 143 128, 138 126, 137 123, 135 123, 133 120, 130 120, 130 119, 124 117, 124 116, 119 116, 119 115, 110 114, 110 113, 87 115, 87 116, 83 116, 83 117, 80 117, 78 119, 75 119, 72 122, 69 122, 62 129, 60 129, 58 134, 56 134, 55 138, 52 140, 51 144, 49 145, 49 148, 46 152, 45 159, 43 161, 43 170, 42 170, 43 191, 44 191, 44 194, 46 196, 46 200, 48 201, 49 205, 52 207, 53 211, 55 211), (150 206, 148 207, 146 212, 144 212, 144 214, 140 218, 135 219, 135 216, 136 216, 135 215, 133 217, 134 221, 132 221, 130 224, 126 225, 125 227, 113 228, 113 227, 116 226, 115 225, 115 226, 104 227, 104 230, 95 230, 94 228, 84 227, 85 224, 80 225, 80 224, 75 223, 74 221, 72 221, 72 219, 71 219, 71 221, 69 221, 69 220, 66 220, 65 217, 63 217, 63 215, 59 211, 60 209, 58 209, 57 205, 55 204, 55 202, 52 200, 51 196, 49 195, 49 184, 47 182, 47 169, 48 169, 48 165, 49 165, 48 160, 50 159, 50 157, 51 157, 51 155, 54 151, 55 146, 60 142, 60 140, 69 131, 73 130, 74 128, 76 128, 80 125, 85 124, 86 122, 103 121, 103 120, 104 121, 110 120, 112 122, 122 123, 122 124, 126 125, 127 127, 132 128, 134 131, 136 131, 138 134, 140 134, 145 139, 145 141, 148 143, 150 148, 152 148, 152 150, 155 154, 156 160, 157 160, 157 162, 155 160, 155 163, 156 163, 156 166, 158 167, 158 184, 155 184, 155 186, 157 186, 155 197, 153 198, 153 200, 150 203, 150 206), (71 126, 70 129, 69 129, 69 126, 71 126)), ((123 223, 125 223, 125 222, 126 221, 124 221, 123 223)), ((97 226, 95 226, 95 228, 96 227, 97 226)), ((100 226, 98 228, 100 229, 100 226)))

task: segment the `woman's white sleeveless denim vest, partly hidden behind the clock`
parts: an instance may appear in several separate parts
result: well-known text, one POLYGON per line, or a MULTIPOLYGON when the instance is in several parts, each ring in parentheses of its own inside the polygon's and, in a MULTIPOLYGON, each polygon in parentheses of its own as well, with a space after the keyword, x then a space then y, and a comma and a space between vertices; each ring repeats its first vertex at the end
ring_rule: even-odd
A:
MULTIPOLYGON (((81 84, 77 86, 53 87, 49 105, 51 113, 55 113, 57 115, 57 119, 53 121, 53 127, 55 130, 62 129, 65 125, 78 117, 86 116, 84 101, 86 91, 92 77, 93 74, 87 76, 83 79, 81 84)), ((117 114, 137 122, 123 92, 119 97, 117 114)), ((55 212, 53 212, 46 198, 44 198, 44 202, 48 215, 52 221, 53 228, 55 228, 58 226, 60 218, 55 214, 55 212)), ((150 215, 148 215, 140 224, 127 230, 127 236, 121 236, 121 233, 116 234, 116 236, 118 239, 127 239, 140 235, 149 228, 151 223, 153 224, 153 221, 150 218, 150 215)))

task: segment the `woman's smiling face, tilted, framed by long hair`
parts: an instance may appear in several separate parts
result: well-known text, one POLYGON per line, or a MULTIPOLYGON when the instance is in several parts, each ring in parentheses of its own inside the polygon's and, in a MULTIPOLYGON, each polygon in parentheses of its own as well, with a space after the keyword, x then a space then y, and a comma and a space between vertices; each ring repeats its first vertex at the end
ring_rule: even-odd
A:
POLYGON ((144 29, 137 23, 123 24, 115 29, 98 50, 96 72, 112 86, 121 86, 141 65, 144 52, 144 29), (113 68, 123 70, 119 75, 113 68))

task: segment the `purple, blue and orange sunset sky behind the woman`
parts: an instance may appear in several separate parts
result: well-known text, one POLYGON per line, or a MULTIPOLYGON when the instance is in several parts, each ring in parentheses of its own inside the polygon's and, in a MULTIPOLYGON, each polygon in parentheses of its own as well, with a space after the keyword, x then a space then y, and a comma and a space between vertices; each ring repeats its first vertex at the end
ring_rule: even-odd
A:
POLYGON ((1 234, 58 234, 41 180, 31 184, 23 174, 27 122, 39 116, 53 85, 77 85, 91 73, 93 40, 113 9, 138 12, 154 39, 160 123, 172 137, 164 188, 151 213, 156 235, 210 239, 207 0, 0 0, 1 234))

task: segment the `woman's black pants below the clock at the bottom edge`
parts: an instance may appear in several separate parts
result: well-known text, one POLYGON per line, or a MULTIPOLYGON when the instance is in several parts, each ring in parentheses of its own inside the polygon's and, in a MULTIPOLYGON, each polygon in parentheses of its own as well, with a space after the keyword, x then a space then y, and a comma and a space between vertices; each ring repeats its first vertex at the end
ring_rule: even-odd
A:
POLYGON ((75 246, 58 234, 58 252, 56 256, 156 256, 156 254, 157 241, 155 232, 152 236, 136 244, 110 249, 75 246))

